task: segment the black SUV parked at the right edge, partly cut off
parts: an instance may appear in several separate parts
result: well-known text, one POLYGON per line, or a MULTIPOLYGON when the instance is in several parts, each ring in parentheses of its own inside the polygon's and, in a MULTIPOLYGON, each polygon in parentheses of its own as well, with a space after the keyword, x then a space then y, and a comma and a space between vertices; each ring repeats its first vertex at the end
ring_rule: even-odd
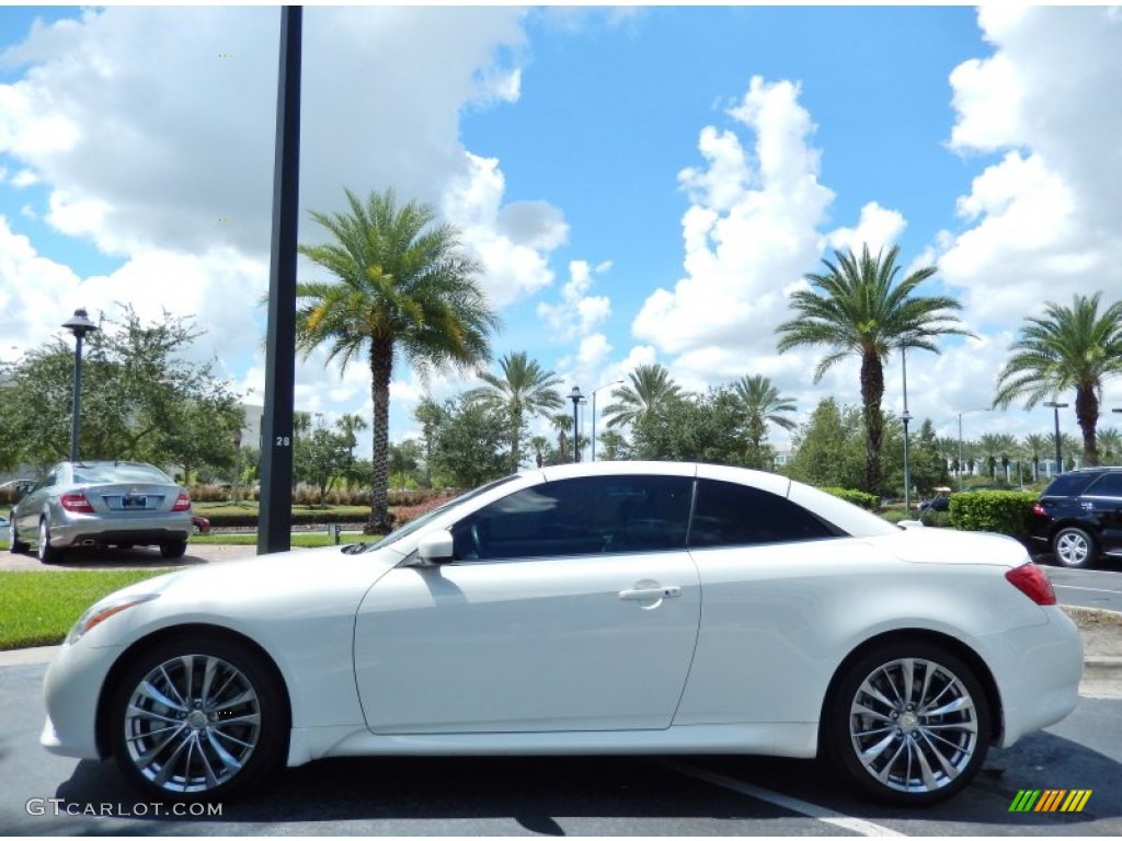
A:
POLYGON ((1063 566, 1122 557, 1122 468, 1085 468, 1056 477, 1032 506, 1029 534, 1063 566))

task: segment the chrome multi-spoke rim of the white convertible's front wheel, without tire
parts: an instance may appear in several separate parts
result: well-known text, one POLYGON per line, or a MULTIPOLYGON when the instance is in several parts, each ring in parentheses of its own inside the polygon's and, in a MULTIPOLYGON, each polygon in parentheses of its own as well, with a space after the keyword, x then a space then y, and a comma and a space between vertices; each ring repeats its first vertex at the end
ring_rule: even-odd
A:
POLYGON ((230 782, 261 737, 249 678, 212 655, 184 654, 148 672, 129 696, 125 746, 137 773, 171 794, 230 782))

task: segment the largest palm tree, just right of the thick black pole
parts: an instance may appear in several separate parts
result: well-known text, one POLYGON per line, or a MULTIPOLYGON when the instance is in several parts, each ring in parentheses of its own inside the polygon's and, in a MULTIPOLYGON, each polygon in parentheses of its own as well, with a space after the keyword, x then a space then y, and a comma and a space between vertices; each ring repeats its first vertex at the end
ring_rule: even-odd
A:
POLYGON ((427 204, 397 207, 394 192, 371 193, 364 204, 349 190, 350 213, 312 213, 334 238, 301 246, 339 283, 296 285, 296 346, 305 358, 320 345, 341 371, 356 359, 370 366, 374 399, 369 534, 389 527, 389 381, 395 357, 424 381, 432 371, 475 368, 490 355, 498 320, 479 288, 481 267, 460 250, 459 231, 434 224, 427 204))

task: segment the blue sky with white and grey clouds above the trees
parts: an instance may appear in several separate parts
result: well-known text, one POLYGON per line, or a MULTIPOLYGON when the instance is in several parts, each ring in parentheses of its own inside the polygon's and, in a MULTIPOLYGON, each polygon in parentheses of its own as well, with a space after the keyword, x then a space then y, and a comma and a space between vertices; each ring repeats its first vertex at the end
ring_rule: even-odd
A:
MULTIPOLYGON (((127 302, 194 318, 192 352, 264 401, 279 19, 0 7, 0 363, 127 302)), ((598 409, 643 363, 695 391, 761 373, 798 422, 859 405, 858 368, 816 383, 822 350, 775 351, 789 295, 837 250, 899 246, 974 334, 909 354, 912 428, 1047 434, 1051 409, 985 409, 1027 317, 1122 298, 1120 44, 1105 6, 310 4, 300 241, 325 241, 310 213, 344 188, 392 187, 481 261, 496 360, 608 386, 598 409)), ((902 375, 895 355, 896 414, 902 375)), ((477 385, 398 362, 390 440, 425 394, 477 385)), ((300 410, 369 418, 369 395, 361 364, 298 360, 300 410)), ((1101 426, 1112 407, 1119 380, 1101 426)))

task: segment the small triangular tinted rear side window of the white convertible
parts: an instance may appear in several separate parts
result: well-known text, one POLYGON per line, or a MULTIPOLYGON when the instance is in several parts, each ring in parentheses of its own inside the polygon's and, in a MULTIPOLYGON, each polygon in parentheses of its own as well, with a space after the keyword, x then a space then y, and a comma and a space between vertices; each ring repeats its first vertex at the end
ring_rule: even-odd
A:
POLYGON ((774 493, 733 482, 698 482, 691 548, 821 540, 839 535, 810 511, 774 493))

